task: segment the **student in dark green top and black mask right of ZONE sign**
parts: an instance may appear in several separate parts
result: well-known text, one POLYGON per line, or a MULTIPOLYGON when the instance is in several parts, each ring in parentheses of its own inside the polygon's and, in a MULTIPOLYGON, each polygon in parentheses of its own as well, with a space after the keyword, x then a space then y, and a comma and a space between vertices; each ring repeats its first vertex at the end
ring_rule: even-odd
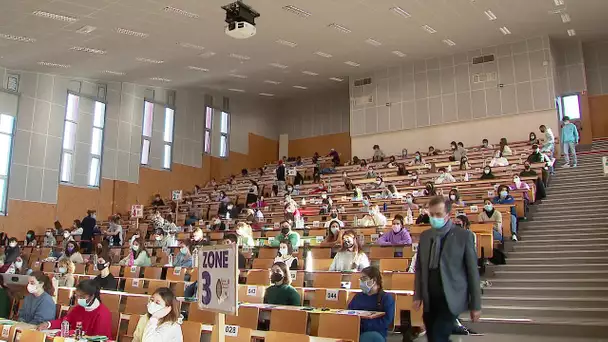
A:
POLYGON ((291 274, 287 265, 275 262, 270 271, 272 285, 266 289, 264 304, 302 305, 300 294, 291 286, 291 274))

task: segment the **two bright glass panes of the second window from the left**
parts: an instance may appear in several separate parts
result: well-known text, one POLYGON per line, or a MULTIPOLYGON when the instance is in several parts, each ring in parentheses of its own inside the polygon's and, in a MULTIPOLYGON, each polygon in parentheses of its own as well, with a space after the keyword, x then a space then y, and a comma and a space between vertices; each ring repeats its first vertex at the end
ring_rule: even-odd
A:
MULTIPOLYGON (((80 116, 79 109, 80 96, 71 93, 68 94, 63 129, 61 172, 59 176, 59 180, 62 183, 74 183, 74 161, 76 159, 76 132, 78 130, 78 119, 80 116)), ((91 127, 91 148, 89 150, 89 156, 86 159, 89 163, 86 185, 92 187, 98 187, 101 178, 101 153, 103 151, 105 115, 106 104, 100 101, 94 101, 93 125, 91 127)), ((84 151, 79 152, 79 158, 84 157, 82 153, 86 154, 84 151)))

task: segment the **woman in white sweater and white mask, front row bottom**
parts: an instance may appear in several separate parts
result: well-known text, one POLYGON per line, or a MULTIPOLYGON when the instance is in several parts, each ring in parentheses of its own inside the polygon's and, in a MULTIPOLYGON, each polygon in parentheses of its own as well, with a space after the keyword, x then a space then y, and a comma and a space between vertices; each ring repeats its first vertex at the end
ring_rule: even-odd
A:
POLYGON ((179 303, 173 291, 158 288, 150 296, 148 313, 137 322, 133 342, 183 342, 179 315, 179 303))

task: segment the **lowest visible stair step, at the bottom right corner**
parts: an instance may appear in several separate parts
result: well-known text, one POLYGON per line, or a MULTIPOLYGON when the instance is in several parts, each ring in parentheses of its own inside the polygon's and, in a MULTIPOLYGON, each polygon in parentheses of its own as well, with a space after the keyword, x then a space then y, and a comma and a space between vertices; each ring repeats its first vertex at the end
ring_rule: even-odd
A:
MULTIPOLYGON (((560 342, 597 342, 605 341, 608 320, 581 319, 578 317, 550 318, 509 316, 505 313, 489 315, 485 310, 479 322, 470 322, 467 314, 462 314, 460 320, 470 329, 485 334, 518 334, 524 336, 538 336, 543 342, 551 341, 546 337, 554 337, 560 342)), ((464 339, 463 339, 464 340, 464 339)), ((471 341, 479 340, 471 337, 471 341)), ((460 340, 459 340, 460 341, 460 340)), ((512 339, 509 339, 512 341, 512 339)))

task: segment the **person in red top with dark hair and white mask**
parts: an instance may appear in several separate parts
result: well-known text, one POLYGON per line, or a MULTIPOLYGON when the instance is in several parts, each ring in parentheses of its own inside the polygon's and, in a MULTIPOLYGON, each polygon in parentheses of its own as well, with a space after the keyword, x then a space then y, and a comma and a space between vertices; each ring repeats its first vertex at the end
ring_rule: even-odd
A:
POLYGON ((87 279, 76 285, 76 302, 70 312, 63 319, 41 323, 38 330, 60 329, 63 321, 70 323, 70 330, 76 329, 78 322, 82 323, 82 330, 87 336, 112 337, 112 314, 101 303, 99 298, 99 285, 96 281, 87 279))

